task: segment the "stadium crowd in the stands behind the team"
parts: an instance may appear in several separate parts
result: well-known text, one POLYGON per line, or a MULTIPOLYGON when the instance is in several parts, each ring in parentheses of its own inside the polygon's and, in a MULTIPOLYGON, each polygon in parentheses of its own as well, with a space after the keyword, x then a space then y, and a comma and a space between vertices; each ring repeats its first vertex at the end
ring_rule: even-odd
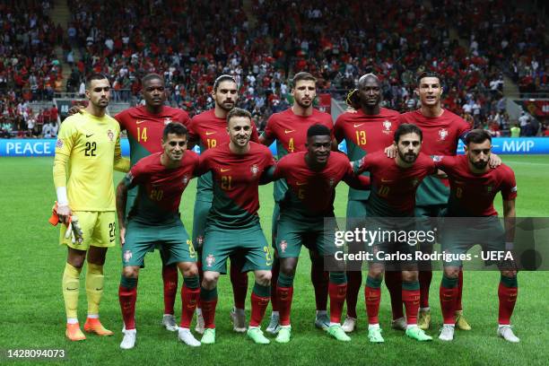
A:
POLYGON ((240 107, 252 112, 260 130, 272 113, 289 106, 288 79, 302 70, 318 76, 320 92, 339 98, 362 74, 379 74, 386 106, 406 111, 419 103, 415 74, 432 69, 444 76, 444 108, 492 135, 508 133, 518 122, 505 111, 503 72, 520 92, 547 88, 544 22, 501 1, 433 1, 430 7, 414 0, 257 0, 245 11, 241 0, 150 6, 115 0, 106 12, 107 4, 69 0, 73 18, 66 32, 48 18, 53 2, 18 11, 24 4, 2 5, 0 15, 9 30, 0 49, 0 90, 14 90, 22 100, 50 99, 62 88, 55 44, 63 45, 73 67, 67 92, 82 94, 84 75, 101 72, 110 76, 113 101, 135 104, 141 77, 160 73, 172 106, 191 116, 212 108, 214 78, 232 74, 240 107), (450 34, 441 13, 457 19, 468 47, 450 34), (226 30, 224 24, 233 26, 226 30), (82 59, 74 62, 76 48, 82 59))

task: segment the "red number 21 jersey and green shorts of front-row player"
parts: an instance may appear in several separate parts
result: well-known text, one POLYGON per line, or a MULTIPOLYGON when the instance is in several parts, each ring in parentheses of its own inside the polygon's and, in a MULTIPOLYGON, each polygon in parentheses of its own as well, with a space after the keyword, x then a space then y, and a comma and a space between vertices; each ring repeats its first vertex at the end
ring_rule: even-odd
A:
POLYGON ((259 225, 258 186, 274 165, 268 147, 249 143, 244 154, 221 144, 200 156, 200 173, 212 173, 213 201, 208 213, 202 264, 205 271, 226 273, 227 257, 244 253, 243 271, 270 269, 273 257, 259 225))

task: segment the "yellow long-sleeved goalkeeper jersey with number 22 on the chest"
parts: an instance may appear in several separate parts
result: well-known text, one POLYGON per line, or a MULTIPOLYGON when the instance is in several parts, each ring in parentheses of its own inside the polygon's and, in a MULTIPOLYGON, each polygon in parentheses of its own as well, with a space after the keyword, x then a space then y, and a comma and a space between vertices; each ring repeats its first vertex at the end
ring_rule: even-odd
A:
POLYGON ((120 126, 107 115, 74 114, 59 129, 54 184, 66 187, 73 211, 115 211, 113 169, 129 170, 120 152, 120 126))

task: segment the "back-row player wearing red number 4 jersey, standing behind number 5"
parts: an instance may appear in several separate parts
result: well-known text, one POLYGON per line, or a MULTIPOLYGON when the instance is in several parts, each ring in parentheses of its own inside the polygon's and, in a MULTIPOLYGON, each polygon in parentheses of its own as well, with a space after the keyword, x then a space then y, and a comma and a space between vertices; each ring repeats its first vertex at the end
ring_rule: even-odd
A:
MULTIPOLYGON (((333 138, 334 123, 332 117, 318 109, 313 108, 313 102, 317 97, 317 79, 305 72, 295 74, 292 80, 293 105, 291 108, 280 113, 274 113, 266 124, 265 132, 260 137, 261 144, 267 146, 276 140, 276 153, 280 160, 288 153, 298 153, 307 151, 307 130, 313 125, 327 126, 330 135, 333 138)), ((335 147, 335 144, 334 144, 335 147)), ((334 150, 337 150, 336 147, 334 150)), ((278 217, 280 214, 280 201, 283 200, 288 185, 285 179, 274 182, 274 210, 272 220, 273 248, 276 248, 276 230, 278 227, 278 217)), ((322 257, 318 256, 316 251, 309 251, 311 258, 310 277, 315 288, 315 300, 317 302, 317 316, 315 326, 327 329, 329 327, 329 318, 327 317, 327 296, 328 296, 328 277, 324 271, 322 257)), ((266 331, 276 334, 279 327, 279 311, 276 292, 276 283, 280 272, 280 262, 278 257, 274 257, 273 265, 273 291, 271 292, 271 301, 273 313, 271 321, 266 331)))

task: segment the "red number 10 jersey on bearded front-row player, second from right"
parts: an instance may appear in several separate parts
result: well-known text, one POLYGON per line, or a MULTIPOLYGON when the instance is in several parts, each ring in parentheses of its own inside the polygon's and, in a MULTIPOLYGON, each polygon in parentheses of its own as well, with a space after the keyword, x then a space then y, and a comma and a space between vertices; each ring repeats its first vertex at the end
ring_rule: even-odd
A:
POLYGON ((434 161, 420 153, 414 165, 401 168, 381 151, 354 161, 354 171, 370 171, 368 213, 372 216, 414 216, 415 191, 422 180, 436 171, 434 161))

